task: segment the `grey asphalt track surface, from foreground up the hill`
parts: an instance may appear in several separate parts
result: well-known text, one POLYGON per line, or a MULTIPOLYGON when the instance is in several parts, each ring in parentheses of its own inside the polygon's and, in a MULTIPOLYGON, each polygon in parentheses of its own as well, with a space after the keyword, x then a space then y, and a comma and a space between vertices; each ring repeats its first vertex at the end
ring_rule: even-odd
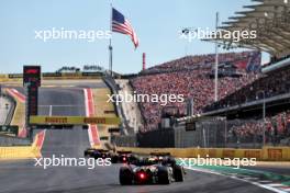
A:
MULTIPOLYGON (((40 113, 48 115, 85 115, 83 93, 81 89, 41 89, 40 113), (54 107, 63 105, 62 107, 54 107), (79 107, 74 107, 79 106, 79 107)), ((72 129, 49 129, 43 146, 43 156, 76 157, 82 156, 89 146, 88 133, 80 127, 72 129)), ((247 182, 227 177, 187 171, 185 182, 170 185, 130 185, 119 184, 119 168, 109 167, 35 167, 34 160, 0 162, 1 193, 168 193, 168 192, 201 192, 201 193, 267 193, 269 191, 247 182)))

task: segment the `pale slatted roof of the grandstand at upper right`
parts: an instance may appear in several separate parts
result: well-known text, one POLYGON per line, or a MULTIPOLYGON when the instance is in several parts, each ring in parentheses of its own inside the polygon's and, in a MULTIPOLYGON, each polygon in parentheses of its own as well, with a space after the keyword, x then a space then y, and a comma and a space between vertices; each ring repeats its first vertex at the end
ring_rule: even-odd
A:
POLYGON ((233 43, 233 38, 211 37, 210 41, 224 43, 227 47, 238 46, 265 50, 275 56, 290 54, 290 0, 252 0, 245 11, 223 22, 219 29, 226 31, 256 31, 256 38, 233 43))

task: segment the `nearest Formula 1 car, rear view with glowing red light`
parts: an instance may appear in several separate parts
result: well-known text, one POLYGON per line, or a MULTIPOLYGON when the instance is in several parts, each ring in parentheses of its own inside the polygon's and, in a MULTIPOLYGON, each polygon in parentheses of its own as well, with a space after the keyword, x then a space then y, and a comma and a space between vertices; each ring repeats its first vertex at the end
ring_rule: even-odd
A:
MULTIPOLYGON (((119 172, 121 185, 130 184, 170 184, 183 181, 183 168, 165 154, 155 154, 145 159, 122 166, 119 172)), ((166 154, 168 155, 168 154, 166 154)))

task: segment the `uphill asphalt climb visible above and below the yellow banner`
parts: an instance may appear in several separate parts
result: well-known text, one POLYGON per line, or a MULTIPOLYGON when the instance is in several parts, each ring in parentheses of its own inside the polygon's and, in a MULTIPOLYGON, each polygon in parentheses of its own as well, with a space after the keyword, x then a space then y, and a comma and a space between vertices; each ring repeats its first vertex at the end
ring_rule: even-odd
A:
MULTIPOLYGON (((41 89, 40 114, 63 116, 86 116, 82 89, 41 89)), ((47 129, 42 154, 44 157, 81 157, 89 147, 88 130, 81 126, 71 129, 47 129)))

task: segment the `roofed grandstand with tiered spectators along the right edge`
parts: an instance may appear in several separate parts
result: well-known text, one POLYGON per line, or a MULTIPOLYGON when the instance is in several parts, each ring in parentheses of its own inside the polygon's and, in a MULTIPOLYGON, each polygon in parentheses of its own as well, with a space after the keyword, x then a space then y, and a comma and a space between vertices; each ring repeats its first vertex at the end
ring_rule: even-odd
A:
POLYGON ((239 137, 257 136, 264 138, 265 144, 289 144, 289 3, 282 0, 256 2, 259 3, 245 5, 244 8, 250 10, 236 12, 238 15, 230 18, 230 21, 221 26, 231 32, 255 30, 256 39, 242 39, 238 43, 221 38, 211 41, 264 50, 271 55, 270 63, 263 66, 263 73, 253 83, 205 106, 204 112, 208 115, 223 114, 230 116, 228 118, 243 118, 244 124, 232 128, 239 137), (249 123, 249 120, 256 122, 249 123))

